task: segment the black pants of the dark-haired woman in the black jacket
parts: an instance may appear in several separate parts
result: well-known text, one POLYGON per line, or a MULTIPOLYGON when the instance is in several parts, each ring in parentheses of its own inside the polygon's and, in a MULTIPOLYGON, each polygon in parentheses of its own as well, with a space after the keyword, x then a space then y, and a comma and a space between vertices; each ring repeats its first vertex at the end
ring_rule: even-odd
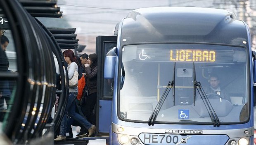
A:
POLYGON ((96 115, 93 112, 97 100, 97 92, 89 94, 86 97, 85 104, 82 106, 82 111, 87 120, 96 125, 96 115))

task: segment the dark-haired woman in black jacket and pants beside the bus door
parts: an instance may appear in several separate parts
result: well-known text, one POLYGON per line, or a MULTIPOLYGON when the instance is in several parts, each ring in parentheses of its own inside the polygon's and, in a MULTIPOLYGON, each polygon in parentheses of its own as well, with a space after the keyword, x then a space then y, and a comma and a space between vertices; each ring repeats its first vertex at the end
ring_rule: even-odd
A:
POLYGON ((85 81, 89 94, 86 97, 85 105, 83 105, 84 115, 86 116, 87 120, 94 125, 96 124, 96 115, 94 114, 93 109, 97 99, 97 59, 97 55, 92 53, 89 55, 88 64, 85 64, 85 81))

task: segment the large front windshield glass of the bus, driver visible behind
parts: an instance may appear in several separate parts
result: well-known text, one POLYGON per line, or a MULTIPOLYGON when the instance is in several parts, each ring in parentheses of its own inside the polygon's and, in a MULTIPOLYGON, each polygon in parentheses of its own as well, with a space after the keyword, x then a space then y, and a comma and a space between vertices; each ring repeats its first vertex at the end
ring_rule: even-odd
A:
POLYGON ((194 96, 195 73, 220 123, 245 121, 249 114, 246 54, 245 48, 220 45, 124 46, 126 76, 120 90, 120 116, 147 122, 166 86, 175 78, 175 87, 167 94, 155 121, 212 123, 204 97, 198 90, 194 96))

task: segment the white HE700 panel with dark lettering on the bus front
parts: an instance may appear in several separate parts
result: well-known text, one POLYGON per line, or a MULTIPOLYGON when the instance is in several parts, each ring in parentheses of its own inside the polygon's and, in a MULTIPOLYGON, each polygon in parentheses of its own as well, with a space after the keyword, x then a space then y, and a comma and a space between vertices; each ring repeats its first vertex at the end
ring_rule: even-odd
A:
POLYGON ((178 134, 140 133, 139 138, 146 145, 180 145, 187 143, 187 139, 191 137, 178 134))

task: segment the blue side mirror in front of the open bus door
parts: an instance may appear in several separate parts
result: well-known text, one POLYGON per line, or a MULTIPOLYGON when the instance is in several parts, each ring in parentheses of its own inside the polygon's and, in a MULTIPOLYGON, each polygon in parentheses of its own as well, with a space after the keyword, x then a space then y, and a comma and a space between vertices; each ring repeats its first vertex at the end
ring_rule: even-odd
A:
POLYGON ((116 68, 116 47, 112 48, 105 57, 104 62, 104 78, 113 79, 116 68))

